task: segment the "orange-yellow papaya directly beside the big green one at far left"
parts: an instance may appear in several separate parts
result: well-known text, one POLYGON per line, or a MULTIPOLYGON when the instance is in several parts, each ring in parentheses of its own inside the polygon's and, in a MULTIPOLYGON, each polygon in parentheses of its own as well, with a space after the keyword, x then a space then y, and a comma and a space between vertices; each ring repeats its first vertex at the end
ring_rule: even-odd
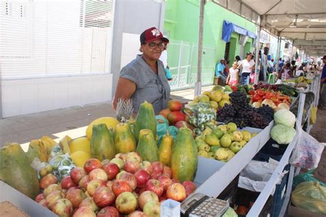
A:
POLYGON ((30 146, 28 146, 26 156, 30 160, 30 163, 32 163, 35 158, 40 159, 41 162, 47 162, 47 150, 43 142, 39 141, 39 139, 32 139, 32 141, 30 141, 30 146))

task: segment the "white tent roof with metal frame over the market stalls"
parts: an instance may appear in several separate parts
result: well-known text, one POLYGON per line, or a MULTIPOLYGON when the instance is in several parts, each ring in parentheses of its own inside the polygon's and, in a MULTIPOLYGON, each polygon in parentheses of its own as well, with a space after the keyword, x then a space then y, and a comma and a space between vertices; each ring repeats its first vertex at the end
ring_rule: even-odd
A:
POLYGON ((215 0, 215 3, 254 23, 260 16, 263 29, 294 40, 294 45, 307 54, 326 54, 326 0, 215 0))

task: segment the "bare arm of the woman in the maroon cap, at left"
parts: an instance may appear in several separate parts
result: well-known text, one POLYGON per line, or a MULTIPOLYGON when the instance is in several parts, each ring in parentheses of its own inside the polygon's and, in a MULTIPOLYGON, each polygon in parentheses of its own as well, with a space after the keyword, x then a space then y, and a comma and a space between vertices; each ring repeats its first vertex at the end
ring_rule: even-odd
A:
POLYGON ((136 84, 127 78, 119 78, 116 94, 114 95, 112 106, 116 110, 117 102, 120 98, 127 100, 135 93, 136 84))

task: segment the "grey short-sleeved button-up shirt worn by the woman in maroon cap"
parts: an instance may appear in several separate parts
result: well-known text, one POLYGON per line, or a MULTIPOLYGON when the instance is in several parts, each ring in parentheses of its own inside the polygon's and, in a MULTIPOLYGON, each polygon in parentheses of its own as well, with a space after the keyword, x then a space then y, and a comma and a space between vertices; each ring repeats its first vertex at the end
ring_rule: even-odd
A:
POLYGON ((131 95, 136 113, 140 104, 145 100, 153 104, 155 115, 167 107, 170 99, 170 85, 160 60, 157 60, 157 69, 156 75, 142 57, 137 56, 120 71, 120 78, 127 78, 136 84, 135 93, 131 95))

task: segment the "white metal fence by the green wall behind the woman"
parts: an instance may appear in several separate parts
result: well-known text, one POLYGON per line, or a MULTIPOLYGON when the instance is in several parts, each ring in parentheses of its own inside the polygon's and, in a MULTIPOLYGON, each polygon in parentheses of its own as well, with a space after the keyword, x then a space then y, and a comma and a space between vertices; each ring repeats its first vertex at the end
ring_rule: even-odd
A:
MULTIPOLYGON (((173 80, 172 90, 195 87, 197 81, 197 43, 171 40, 169 43, 168 63, 173 80)), ((202 85, 213 83, 215 71, 215 47, 204 45, 202 56, 202 85)))

